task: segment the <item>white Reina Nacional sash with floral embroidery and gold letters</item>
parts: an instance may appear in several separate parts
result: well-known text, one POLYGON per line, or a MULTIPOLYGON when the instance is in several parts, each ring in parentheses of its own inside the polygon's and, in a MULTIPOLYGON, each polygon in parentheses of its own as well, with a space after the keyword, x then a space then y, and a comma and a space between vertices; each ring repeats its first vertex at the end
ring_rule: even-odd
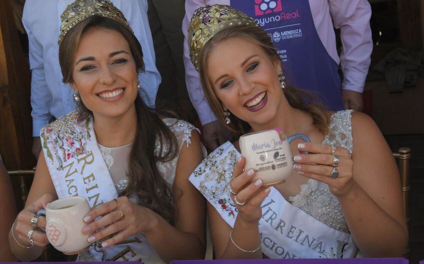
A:
MULTIPOLYGON (((118 197, 97 145, 91 118, 78 120, 73 111, 41 129, 40 137, 59 199, 81 196, 90 207, 97 207, 118 197)), ((88 255, 91 261, 163 263, 142 234, 107 249, 101 248, 100 243, 93 244, 88 255)))

